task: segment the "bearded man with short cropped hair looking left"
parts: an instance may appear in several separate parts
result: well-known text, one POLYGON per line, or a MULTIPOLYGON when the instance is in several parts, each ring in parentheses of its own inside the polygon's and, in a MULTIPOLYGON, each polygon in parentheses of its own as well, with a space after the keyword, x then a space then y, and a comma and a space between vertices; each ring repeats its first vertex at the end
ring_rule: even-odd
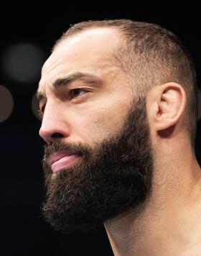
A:
POLYGON ((156 24, 81 22, 42 68, 47 221, 104 223, 114 255, 201 255, 189 54, 156 24))

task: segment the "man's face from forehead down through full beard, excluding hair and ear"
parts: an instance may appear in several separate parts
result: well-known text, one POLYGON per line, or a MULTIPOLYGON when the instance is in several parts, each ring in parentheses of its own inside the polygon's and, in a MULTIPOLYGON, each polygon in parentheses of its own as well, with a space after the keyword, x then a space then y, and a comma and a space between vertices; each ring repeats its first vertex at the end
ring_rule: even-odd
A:
POLYGON ((112 29, 90 29, 61 42, 42 69, 43 214, 62 232, 93 229, 151 191, 146 99, 114 65, 116 45, 112 29))

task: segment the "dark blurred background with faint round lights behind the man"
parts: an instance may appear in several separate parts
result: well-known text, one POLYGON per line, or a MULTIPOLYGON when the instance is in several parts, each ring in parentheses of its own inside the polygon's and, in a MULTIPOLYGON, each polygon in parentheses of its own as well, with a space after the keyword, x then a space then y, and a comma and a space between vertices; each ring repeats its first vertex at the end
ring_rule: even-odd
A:
MULTIPOLYGON (((134 3, 133 3, 134 4, 134 3)), ((95 3, 28 6, 7 2, 0 11, 0 255, 112 255, 103 227, 87 234, 63 235, 43 219, 45 198, 42 139, 34 93, 42 64, 65 30, 88 19, 128 18, 172 30, 192 53, 200 86, 201 37, 198 6, 156 7, 95 3), (79 8, 78 8, 79 6, 79 8)), ((199 106, 199 109, 200 106, 199 106)), ((200 111, 201 112, 201 111, 200 111)), ((196 152, 200 162, 200 121, 196 152)))

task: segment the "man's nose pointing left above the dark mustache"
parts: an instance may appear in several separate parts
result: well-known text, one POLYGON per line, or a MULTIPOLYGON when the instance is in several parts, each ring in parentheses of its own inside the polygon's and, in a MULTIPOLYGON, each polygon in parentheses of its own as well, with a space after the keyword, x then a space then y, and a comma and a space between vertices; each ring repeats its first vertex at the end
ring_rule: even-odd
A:
POLYGON ((45 107, 42 118, 42 125, 39 129, 39 136, 42 137, 47 144, 54 142, 58 138, 69 137, 70 132, 67 126, 67 120, 59 109, 51 109, 50 106, 45 107))

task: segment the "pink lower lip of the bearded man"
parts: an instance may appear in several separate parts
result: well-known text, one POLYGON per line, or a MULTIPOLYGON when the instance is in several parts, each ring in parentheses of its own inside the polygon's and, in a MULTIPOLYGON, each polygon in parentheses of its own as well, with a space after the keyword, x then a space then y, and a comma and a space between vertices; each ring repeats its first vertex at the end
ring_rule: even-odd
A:
POLYGON ((52 172, 58 173, 60 170, 65 169, 73 165, 79 159, 78 155, 68 155, 66 157, 62 157, 60 160, 52 163, 52 172))

